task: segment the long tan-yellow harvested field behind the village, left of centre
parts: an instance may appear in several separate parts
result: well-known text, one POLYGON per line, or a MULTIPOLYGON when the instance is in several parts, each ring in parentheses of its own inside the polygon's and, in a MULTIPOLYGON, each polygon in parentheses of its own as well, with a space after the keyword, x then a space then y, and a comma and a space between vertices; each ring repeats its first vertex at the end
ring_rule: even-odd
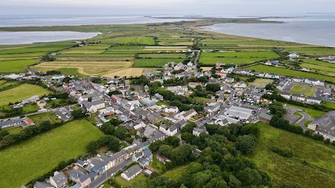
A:
POLYGON ((104 75, 130 68, 131 65, 133 61, 52 61, 40 63, 33 68, 41 71, 77 68, 77 72, 81 75, 104 75))

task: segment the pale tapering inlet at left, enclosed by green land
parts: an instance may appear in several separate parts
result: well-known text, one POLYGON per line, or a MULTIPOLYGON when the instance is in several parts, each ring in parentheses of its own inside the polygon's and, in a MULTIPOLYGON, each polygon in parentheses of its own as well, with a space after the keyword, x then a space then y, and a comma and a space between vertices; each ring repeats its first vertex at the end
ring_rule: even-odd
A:
POLYGON ((24 31, 1 32, 0 45, 20 45, 34 42, 54 42, 61 40, 81 40, 92 38, 99 33, 82 33, 74 31, 24 31))

